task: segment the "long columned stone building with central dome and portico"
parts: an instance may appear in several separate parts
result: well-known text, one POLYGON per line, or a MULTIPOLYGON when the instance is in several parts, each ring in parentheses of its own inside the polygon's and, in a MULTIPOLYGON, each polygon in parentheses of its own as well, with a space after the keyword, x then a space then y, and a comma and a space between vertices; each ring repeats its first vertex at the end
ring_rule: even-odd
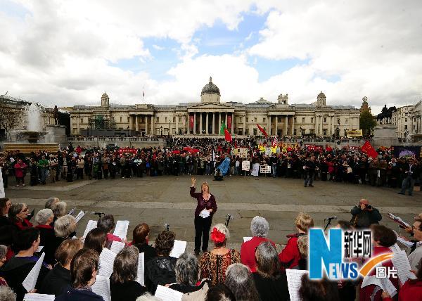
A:
POLYGON ((110 105, 108 95, 101 105, 75 105, 70 112, 73 135, 218 135, 222 122, 236 136, 260 134, 257 124, 267 134, 279 137, 314 134, 346 136, 359 129, 359 108, 351 105, 327 105, 324 93, 312 104, 289 104, 288 94, 277 102, 260 98, 254 103, 220 102, 219 88, 205 84, 198 103, 175 105, 110 105))

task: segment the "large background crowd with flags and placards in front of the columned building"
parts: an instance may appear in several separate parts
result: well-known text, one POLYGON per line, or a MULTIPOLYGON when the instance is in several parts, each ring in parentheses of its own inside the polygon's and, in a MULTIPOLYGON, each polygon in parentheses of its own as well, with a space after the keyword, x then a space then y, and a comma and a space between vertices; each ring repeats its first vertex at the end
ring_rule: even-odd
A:
MULTIPOLYGON (((305 179, 305 186, 314 180, 367 184, 402 188, 412 195, 420 183, 421 159, 395 158, 390 149, 379 150, 372 158, 357 148, 260 145, 255 139, 179 138, 169 139, 165 147, 151 148, 74 148, 71 144, 56 153, 38 151, 29 156, 19 151, 0 157, 4 186, 8 177, 15 177, 16 186, 46 184, 60 180, 115 179, 116 177, 156 177, 163 175, 217 175, 225 158, 230 159, 226 175, 253 175, 305 179), (246 150, 238 152, 239 148, 246 150), (243 162, 249 167, 243 169, 243 162), (262 173, 254 165, 267 165, 270 173, 262 173), (26 182, 26 183, 25 183, 26 182)), ((221 179, 221 177, 220 177, 221 179)))

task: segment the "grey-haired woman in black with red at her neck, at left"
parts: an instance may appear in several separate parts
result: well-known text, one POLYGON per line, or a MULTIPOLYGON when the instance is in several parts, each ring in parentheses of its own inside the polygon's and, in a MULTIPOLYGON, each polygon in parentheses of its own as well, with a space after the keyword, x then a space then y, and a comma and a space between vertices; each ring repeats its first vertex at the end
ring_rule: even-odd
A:
POLYGON ((41 209, 35 215, 35 222, 37 222, 36 229, 39 230, 41 241, 39 245, 43 246, 42 252, 46 253, 44 261, 53 265, 55 263, 54 252, 56 252, 56 236, 54 235, 54 228, 51 226, 54 214, 51 209, 41 209))

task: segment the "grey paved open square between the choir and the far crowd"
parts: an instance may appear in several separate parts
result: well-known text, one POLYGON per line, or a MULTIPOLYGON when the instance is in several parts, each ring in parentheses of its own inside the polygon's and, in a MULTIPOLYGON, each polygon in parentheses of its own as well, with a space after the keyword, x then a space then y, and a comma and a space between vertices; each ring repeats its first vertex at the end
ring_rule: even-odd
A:
MULTIPOLYGON (((388 219, 388 212, 398 214, 409 223, 415 214, 422 212, 422 193, 418 191, 414 196, 401 196, 397 189, 323 181, 316 181, 313 188, 305 188, 300 179, 238 176, 225 177, 224 181, 212 181, 212 177, 205 176, 197 179, 197 188, 200 189, 203 181, 208 181, 210 192, 217 199, 218 210, 213 224, 224 223, 226 214, 233 216, 229 229, 230 242, 234 245, 241 243, 243 236, 250 236, 250 220, 255 215, 269 221, 269 238, 284 244, 286 235, 294 232, 293 222, 298 212, 311 214, 316 226, 322 227, 324 218, 333 215, 350 220, 352 206, 357 205, 359 199, 367 198, 383 214, 382 223, 395 230, 397 224, 388 219)), ((196 200, 189 196, 190 185, 188 176, 59 181, 44 186, 9 186, 6 196, 13 202, 27 203, 36 211, 44 206, 47 198, 56 196, 68 203, 68 209, 77 207, 88 213, 113 214, 116 220, 128 219, 129 239, 134 226, 146 222, 151 226, 151 241, 167 223, 177 239, 193 242, 196 200)), ((87 214, 79 222, 79 236, 89 219, 96 219, 96 216, 87 214)))

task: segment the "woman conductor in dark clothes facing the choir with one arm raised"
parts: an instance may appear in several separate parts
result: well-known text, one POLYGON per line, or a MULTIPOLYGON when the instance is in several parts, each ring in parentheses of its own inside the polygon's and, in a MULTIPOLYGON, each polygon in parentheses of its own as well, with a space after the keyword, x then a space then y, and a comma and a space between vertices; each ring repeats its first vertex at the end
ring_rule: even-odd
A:
POLYGON ((191 197, 198 200, 198 205, 195 210, 195 254, 199 255, 201 237, 203 252, 207 252, 208 250, 212 216, 217 211, 217 203, 215 201, 215 196, 210 193, 210 186, 207 182, 203 182, 200 186, 201 192, 196 193, 196 179, 192 177, 191 180, 191 197))

